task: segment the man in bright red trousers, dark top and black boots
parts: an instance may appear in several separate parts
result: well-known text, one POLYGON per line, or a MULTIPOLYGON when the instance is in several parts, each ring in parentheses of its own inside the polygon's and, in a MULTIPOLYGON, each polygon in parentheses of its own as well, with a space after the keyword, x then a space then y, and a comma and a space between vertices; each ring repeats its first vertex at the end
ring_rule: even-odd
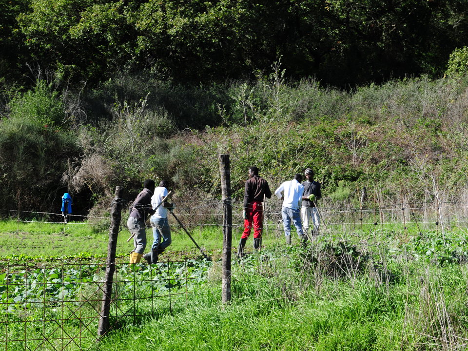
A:
POLYGON ((263 231, 263 199, 271 198, 272 192, 268 182, 258 176, 258 168, 249 168, 249 179, 245 182, 244 193, 244 233, 239 242, 239 256, 244 255, 244 247, 247 238, 254 227, 254 249, 259 249, 262 246, 262 231, 263 231))

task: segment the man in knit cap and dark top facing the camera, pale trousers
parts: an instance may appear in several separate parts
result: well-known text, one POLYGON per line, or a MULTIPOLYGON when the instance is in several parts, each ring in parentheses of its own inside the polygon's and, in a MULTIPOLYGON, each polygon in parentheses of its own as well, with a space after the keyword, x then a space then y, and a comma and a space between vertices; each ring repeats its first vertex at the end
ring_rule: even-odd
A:
POLYGON ((304 232, 306 234, 311 233, 313 236, 317 235, 320 229, 320 215, 318 214, 317 207, 315 207, 315 201, 322 197, 322 191, 320 183, 313 180, 312 168, 306 168, 304 174, 306 181, 302 182, 304 186, 301 209, 302 225, 304 226, 304 232), (309 228, 311 228, 311 232, 309 232, 309 228))

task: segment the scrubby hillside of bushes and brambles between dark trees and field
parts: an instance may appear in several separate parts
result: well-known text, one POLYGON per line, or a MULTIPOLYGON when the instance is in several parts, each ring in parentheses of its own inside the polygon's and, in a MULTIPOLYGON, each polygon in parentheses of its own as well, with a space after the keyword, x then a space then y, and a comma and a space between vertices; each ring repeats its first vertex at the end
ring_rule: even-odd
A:
POLYGON ((131 199, 148 177, 171 180, 179 194, 216 197, 221 153, 231 154, 237 199, 251 165, 272 187, 313 167, 331 200, 356 182, 396 192, 403 181, 414 199, 434 182, 446 200, 466 195, 463 76, 345 92, 287 81, 280 63, 271 72, 192 87, 122 75, 79 96, 58 96, 44 80, 10 91, 0 124, 2 201, 51 210, 68 190, 78 211, 95 204, 99 213, 116 185, 131 199))

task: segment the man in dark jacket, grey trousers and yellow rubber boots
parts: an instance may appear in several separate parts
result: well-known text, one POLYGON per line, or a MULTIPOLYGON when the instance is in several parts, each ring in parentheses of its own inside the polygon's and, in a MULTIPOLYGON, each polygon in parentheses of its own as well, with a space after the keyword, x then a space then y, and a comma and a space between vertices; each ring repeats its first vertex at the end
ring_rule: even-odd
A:
POLYGON ((135 249, 130 253, 130 263, 139 263, 146 247, 146 219, 148 215, 153 215, 155 210, 151 205, 151 196, 155 192, 155 181, 146 179, 143 183, 144 189, 138 194, 135 201, 130 206, 130 217, 127 220, 127 227, 130 233, 135 234, 133 244, 135 249))

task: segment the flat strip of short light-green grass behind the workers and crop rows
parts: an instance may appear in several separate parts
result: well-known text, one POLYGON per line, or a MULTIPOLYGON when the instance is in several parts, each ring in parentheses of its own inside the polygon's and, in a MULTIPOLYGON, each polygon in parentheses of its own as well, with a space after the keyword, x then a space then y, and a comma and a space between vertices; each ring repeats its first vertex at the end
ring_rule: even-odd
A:
MULTIPOLYGON (((218 252, 222 249, 222 228, 217 226, 188 227, 189 233, 195 242, 209 253, 218 252)), ((197 255, 197 248, 189 236, 178 225, 171 225, 172 244, 168 253, 183 253, 190 256, 197 255)), ((234 228, 233 246, 242 235, 242 230, 234 228)), ((147 247, 153 242, 151 228, 146 230, 147 247)), ((133 249, 133 240, 127 243, 130 233, 125 227, 120 228, 117 242, 117 255, 123 256, 133 249)), ((253 234, 251 235, 253 238, 253 234)), ((96 230, 91 224, 85 222, 71 222, 67 225, 55 223, 32 222, 24 223, 14 220, 0 221, 0 246, 3 256, 95 256, 107 254, 109 233, 105 229, 96 230)), ((274 231, 266 231, 264 245, 283 240, 274 231)), ((247 243, 247 250, 253 248, 252 240, 247 243), (250 249, 249 249, 250 248, 250 249)))

